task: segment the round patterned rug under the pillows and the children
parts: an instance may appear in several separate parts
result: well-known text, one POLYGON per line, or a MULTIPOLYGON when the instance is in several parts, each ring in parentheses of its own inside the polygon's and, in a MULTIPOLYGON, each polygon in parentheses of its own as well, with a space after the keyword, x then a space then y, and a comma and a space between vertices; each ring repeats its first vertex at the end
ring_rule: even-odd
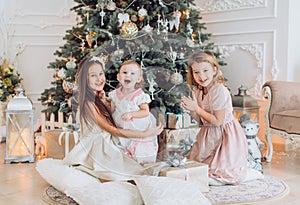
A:
MULTIPOLYGON (((239 186, 211 186, 204 195, 212 204, 258 203, 275 200, 288 194, 289 188, 283 182, 271 176, 239 186)), ((42 194, 43 200, 50 205, 77 205, 75 201, 49 186, 42 194)))

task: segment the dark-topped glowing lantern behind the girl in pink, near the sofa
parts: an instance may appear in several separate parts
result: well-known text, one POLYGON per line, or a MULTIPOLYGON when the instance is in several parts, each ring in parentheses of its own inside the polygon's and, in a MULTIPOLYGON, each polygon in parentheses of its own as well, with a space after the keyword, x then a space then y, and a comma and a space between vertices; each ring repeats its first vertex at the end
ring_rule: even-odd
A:
POLYGON ((243 114, 247 114, 252 120, 259 122, 259 105, 257 101, 247 94, 247 88, 241 85, 238 94, 232 97, 233 115, 239 120, 243 114))

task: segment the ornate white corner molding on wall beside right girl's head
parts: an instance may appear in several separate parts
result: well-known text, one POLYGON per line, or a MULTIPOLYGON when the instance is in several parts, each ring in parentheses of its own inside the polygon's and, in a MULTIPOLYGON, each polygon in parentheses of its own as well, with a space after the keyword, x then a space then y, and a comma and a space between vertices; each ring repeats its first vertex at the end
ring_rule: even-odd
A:
POLYGON ((256 44, 232 44, 232 45, 217 45, 216 48, 221 53, 221 58, 227 58, 231 53, 237 49, 244 50, 250 53, 256 59, 256 65, 260 73, 256 76, 255 83, 253 87, 249 88, 251 95, 260 97, 261 96, 261 87, 263 85, 263 67, 264 67, 264 43, 256 44))

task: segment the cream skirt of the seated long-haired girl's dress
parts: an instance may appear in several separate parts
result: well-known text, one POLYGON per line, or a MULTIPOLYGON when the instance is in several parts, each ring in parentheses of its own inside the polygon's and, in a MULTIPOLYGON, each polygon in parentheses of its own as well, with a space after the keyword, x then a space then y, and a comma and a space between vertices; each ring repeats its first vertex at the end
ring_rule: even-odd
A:
POLYGON ((79 143, 63 159, 64 164, 107 180, 129 180, 144 174, 146 168, 123 154, 110 133, 97 125, 91 131, 83 126, 82 133, 79 143))

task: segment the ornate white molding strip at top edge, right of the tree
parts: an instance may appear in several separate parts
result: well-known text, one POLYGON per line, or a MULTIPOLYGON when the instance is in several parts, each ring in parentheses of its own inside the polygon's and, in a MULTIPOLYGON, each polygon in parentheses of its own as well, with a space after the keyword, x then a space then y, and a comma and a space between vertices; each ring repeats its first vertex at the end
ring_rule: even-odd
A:
POLYGON ((201 10, 204 14, 261 7, 267 7, 267 0, 208 0, 201 10))

